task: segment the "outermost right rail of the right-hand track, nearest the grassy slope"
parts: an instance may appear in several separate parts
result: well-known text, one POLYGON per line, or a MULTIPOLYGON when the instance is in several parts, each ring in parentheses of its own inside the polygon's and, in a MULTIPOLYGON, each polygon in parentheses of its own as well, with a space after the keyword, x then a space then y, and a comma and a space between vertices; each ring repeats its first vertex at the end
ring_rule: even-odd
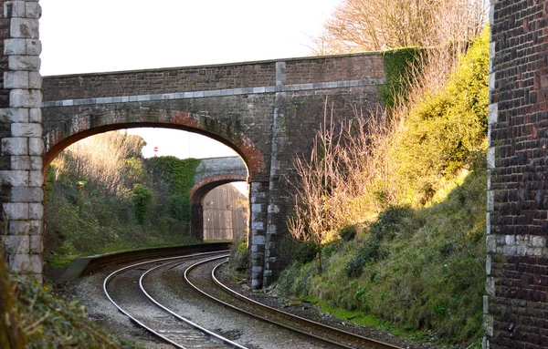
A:
POLYGON ((306 319, 306 318, 298 316, 298 315, 294 315, 292 313, 283 312, 279 309, 270 307, 269 305, 266 305, 266 304, 263 304, 263 303, 258 303, 257 301, 254 301, 251 298, 248 298, 243 294, 237 293, 236 291, 230 289, 229 287, 227 287, 227 285, 225 285, 223 282, 220 282, 216 278, 217 269, 225 263, 227 263, 227 261, 221 262, 221 263, 216 265, 216 267, 211 271, 211 278, 213 279, 213 282, 215 282, 217 286, 221 287, 223 289, 223 291, 225 291, 226 293, 228 293, 232 297, 235 297, 235 298, 237 298, 237 299, 239 299, 243 302, 246 302, 246 303, 251 303, 254 306, 257 306, 261 309, 264 309, 265 311, 267 311, 269 313, 277 313, 280 316, 286 317, 290 320, 297 321, 299 323, 304 323, 304 324, 307 324, 307 325, 311 325, 313 327, 318 327, 318 328, 321 328, 322 331, 329 332, 329 333, 332 333, 332 334, 336 334, 336 335, 339 335, 339 336, 347 336, 349 339, 352 339, 353 341, 365 342, 366 344, 374 345, 375 347, 377 347, 379 349, 402 349, 402 348, 400 348, 398 346, 395 346, 395 345, 392 345, 392 344, 387 344, 387 343, 384 343, 384 342, 376 341, 372 338, 367 338, 367 337, 364 337, 364 336, 359 335, 359 334, 353 334, 351 332, 344 331, 344 330, 329 326, 327 324, 317 323, 315 321, 311 321, 309 319, 306 319))

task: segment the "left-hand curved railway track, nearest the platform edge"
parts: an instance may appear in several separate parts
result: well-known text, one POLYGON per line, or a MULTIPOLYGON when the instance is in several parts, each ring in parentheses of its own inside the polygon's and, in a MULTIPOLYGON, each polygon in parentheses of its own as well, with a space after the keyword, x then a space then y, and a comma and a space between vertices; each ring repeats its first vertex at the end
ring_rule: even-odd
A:
POLYGON ((173 344, 177 348, 247 349, 243 345, 234 343, 226 337, 208 331, 184 316, 170 311, 163 304, 157 302, 142 287, 142 280, 149 272, 160 268, 174 267, 188 260, 203 258, 214 253, 218 252, 163 258, 125 266, 115 272, 111 272, 105 278, 103 291, 111 303, 121 313, 128 316, 133 323, 136 323, 164 342, 173 344), (142 273, 142 267, 147 264, 153 264, 153 267, 142 273), (128 287, 128 282, 134 284, 137 281, 140 284, 139 289, 128 287))

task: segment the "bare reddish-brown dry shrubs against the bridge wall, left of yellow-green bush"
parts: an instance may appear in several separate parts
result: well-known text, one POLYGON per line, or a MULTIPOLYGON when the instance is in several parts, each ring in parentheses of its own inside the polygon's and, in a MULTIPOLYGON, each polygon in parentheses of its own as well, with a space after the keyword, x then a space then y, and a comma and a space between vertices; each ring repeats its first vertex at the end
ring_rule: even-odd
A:
POLYGON ((300 241, 332 241, 339 228, 369 219, 392 196, 385 187, 387 140, 393 137, 386 114, 356 108, 354 118, 340 124, 327 110, 324 118, 310 159, 295 160, 299 181, 289 228, 300 241))

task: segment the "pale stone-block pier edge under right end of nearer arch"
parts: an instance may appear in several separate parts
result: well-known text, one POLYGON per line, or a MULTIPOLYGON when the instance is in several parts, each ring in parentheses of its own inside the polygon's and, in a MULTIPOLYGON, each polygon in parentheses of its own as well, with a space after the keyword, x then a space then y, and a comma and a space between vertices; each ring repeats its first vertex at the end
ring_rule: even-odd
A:
POLYGON ((266 227, 269 204, 269 182, 251 182, 249 205, 251 206, 249 246, 250 246, 250 267, 251 287, 254 289, 263 286, 263 272, 265 265, 266 227))

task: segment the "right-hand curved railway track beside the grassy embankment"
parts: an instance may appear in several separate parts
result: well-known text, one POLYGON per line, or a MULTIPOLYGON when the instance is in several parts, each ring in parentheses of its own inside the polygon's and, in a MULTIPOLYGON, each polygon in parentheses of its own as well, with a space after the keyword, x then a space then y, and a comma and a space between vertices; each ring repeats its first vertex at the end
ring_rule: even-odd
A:
POLYGON ((239 293, 230 290, 216 278, 216 269, 225 262, 216 262, 224 256, 207 259, 196 262, 187 268, 184 272, 184 280, 191 285, 198 293, 205 297, 221 303, 226 307, 254 316, 262 321, 274 323, 277 326, 289 329, 313 338, 315 341, 321 341, 332 348, 371 348, 371 349, 399 349, 398 347, 374 341, 357 334, 352 334, 337 328, 315 323, 308 319, 295 316, 290 313, 281 312, 278 309, 271 308, 262 303, 257 303, 239 293), (208 273, 209 278, 203 275, 208 273), (195 277, 195 274, 198 277, 195 277), (207 290, 207 291, 205 291, 207 290))

